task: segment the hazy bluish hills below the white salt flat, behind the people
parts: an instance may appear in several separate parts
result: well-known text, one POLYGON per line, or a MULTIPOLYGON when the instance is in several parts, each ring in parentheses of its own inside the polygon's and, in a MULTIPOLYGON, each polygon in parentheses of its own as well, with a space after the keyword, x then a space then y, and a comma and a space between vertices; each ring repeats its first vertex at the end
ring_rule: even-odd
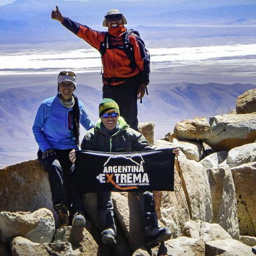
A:
MULTIPOLYGON (((156 124, 155 138, 173 130, 174 124, 195 116, 226 114, 235 109, 236 97, 255 87, 253 84, 168 84, 158 80, 150 84, 149 95, 139 104, 139 121, 156 124)), ((78 85, 77 95, 93 119, 98 119, 101 91, 78 85)), ((0 163, 11 164, 36 156, 37 144, 31 131, 39 104, 56 93, 54 86, 36 92, 36 87, 2 90, 0 98, 0 163), (12 153, 15 153, 13 155, 12 153), (21 154, 22 153, 22 154, 21 154), (26 153, 26 154, 25 154, 26 153), (15 159, 15 161, 13 160, 15 159), (14 162, 12 162, 14 161, 14 162)), ((83 133, 82 133, 83 134, 83 133)), ((0 164, 1 166, 1 164, 0 164)))

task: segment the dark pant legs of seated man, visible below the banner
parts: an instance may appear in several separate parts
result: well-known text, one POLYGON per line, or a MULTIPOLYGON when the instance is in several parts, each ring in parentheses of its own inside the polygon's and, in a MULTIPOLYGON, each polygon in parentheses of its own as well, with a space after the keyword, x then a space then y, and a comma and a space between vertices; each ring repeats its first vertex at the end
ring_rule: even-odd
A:
MULTIPOLYGON (((155 210, 154 194, 150 191, 136 192, 139 196, 140 211, 143 218, 144 227, 158 226, 158 218, 155 210)), ((111 227, 116 232, 113 202, 110 191, 97 193, 98 211, 100 214, 100 221, 102 228, 111 227)))

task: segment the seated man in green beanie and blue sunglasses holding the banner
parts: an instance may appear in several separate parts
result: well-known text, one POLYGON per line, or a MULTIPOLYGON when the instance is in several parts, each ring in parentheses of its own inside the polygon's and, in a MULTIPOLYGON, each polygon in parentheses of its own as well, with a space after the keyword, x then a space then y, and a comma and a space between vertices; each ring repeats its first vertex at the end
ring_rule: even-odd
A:
MULTIPOLYGON (((86 132, 81 144, 83 150, 104 152, 132 152, 152 150, 153 146, 143 135, 129 127, 124 119, 119 116, 119 107, 114 100, 103 99, 99 105, 100 119, 95 128, 86 132)), ((173 149, 175 155, 179 148, 173 149)), ((75 162, 75 150, 69 154, 71 162, 75 162)), ((169 228, 159 228, 157 213, 155 211, 154 194, 150 191, 137 192, 140 198, 140 208, 145 227, 145 241, 148 247, 167 241, 171 238, 169 228)), ((116 226, 114 221, 113 203, 111 192, 97 193, 98 210, 102 225, 102 242, 115 243, 116 226)))

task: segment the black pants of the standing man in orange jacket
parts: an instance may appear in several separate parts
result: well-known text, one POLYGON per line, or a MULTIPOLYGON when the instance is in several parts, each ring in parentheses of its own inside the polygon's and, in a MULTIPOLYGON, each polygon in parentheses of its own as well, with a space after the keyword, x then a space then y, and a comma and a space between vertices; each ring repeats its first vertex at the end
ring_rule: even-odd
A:
POLYGON ((110 98, 116 101, 119 106, 120 116, 134 130, 138 131, 138 77, 127 79, 120 85, 103 85, 102 98, 110 98))

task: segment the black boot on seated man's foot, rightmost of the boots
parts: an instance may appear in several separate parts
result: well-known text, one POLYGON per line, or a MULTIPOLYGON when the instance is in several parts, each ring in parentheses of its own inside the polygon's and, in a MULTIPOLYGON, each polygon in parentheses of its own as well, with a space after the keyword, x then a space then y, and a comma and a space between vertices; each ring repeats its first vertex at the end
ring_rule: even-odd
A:
POLYGON ((155 247, 159 243, 169 240, 172 236, 171 230, 169 228, 159 228, 153 226, 147 229, 145 234, 146 246, 149 248, 155 247))

